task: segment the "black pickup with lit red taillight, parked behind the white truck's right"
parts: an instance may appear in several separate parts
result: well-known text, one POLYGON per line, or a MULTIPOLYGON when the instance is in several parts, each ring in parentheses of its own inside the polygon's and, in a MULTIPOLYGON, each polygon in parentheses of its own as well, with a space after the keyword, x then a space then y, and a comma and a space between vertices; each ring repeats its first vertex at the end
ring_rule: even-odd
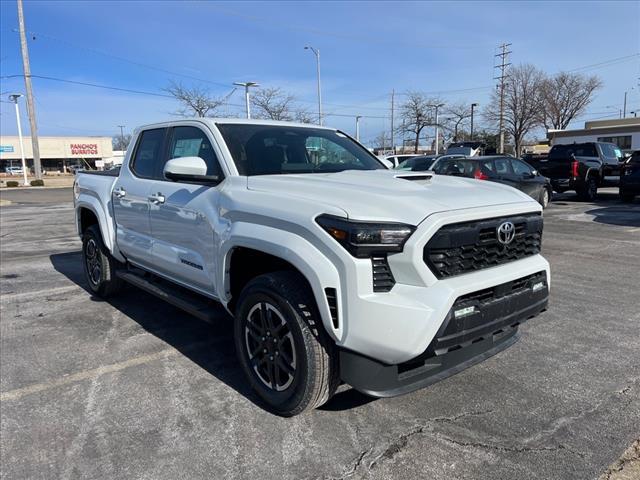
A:
POLYGON ((598 188, 619 185, 622 158, 613 143, 586 142, 554 145, 547 159, 530 163, 551 179, 556 192, 575 190, 582 200, 593 201, 598 188))

